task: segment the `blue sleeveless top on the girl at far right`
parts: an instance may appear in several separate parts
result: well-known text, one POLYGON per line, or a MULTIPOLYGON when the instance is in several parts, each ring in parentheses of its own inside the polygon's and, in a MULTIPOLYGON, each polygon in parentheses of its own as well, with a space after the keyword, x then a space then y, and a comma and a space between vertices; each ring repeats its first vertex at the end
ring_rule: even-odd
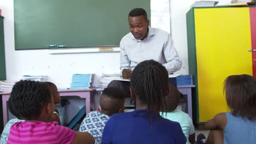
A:
POLYGON ((256 143, 256 118, 252 121, 234 116, 226 112, 226 127, 224 129, 224 144, 254 144, 256 143))

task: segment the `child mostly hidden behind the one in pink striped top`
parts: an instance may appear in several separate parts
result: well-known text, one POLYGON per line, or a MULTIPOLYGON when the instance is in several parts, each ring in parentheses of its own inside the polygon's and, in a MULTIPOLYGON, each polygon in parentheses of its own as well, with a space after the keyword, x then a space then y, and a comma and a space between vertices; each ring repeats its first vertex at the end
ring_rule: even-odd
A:
MULTIPOLYGON (((46 85, 49 86, 49 88, 51 89, 51 92, 53 93, 53 99, 54 99, 54 104, 60 104, 60 94, 57 91, 57 86, 52 83, 52 82, 45 82, 46 85)), ((10 103, 8 103, 10 104, 10 103)), ((9 106, 11 107, 11 106, 9 106)), ((14 113, 14 111, 10 110, 11 113, 14 113)), ((10 127, 12 124, 16 123, 16 122, 24 122, 24 120, 19 119, 19 118, 13 118, 10 119, 7 124, 5 124, 5 127, 3 129, 3 132, 1 134, 1 140, 0 140, 0 144, 5 144, 7 143, 7 139, 8 139, 8 135, 10 132, 10 127)), ((57 111, 57 109, 54 110, 54 114, 53 114, 53 119, 51 119, 51 122, 57 122, 58 124, 60 124, 60 117, 59 117, 59 112, 57 111)))

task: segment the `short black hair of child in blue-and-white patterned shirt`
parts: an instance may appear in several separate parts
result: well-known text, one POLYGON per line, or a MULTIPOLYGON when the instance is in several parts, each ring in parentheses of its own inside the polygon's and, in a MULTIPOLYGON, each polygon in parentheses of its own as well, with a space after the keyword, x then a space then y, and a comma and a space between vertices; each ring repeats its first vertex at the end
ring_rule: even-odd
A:
POLYGON ((106 95, 109 98, 124 99, 124 92, 118 87, 107 87, 102 91, 102 95, 106 95))

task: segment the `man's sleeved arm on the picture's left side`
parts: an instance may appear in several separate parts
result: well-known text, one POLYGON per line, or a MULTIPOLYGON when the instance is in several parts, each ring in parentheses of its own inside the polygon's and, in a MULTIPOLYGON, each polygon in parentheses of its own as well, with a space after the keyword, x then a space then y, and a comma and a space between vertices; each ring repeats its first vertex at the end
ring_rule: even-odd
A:
MULTIPOLYGON (((130 69, 131 60, 127 56, 127 53, 125 51, 125 46, 123 44, 123 40, 120 42, 120 70, 121 74, 124 69, 130 69)), ((123 76, 123 74, 122 74, 123 76)), ((130 77, 129 77, 130 78, 130 77)))

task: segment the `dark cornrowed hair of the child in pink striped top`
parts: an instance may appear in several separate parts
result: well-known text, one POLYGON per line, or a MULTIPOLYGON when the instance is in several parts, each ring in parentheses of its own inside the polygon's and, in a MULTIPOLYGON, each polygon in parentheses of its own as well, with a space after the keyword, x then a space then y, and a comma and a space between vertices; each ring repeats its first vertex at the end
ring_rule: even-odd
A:
POLYGON ((52 99, 51 90, 44 82, 21 80, 13 86, 8 106, 14 116, 36 120, 43 106, 52 99))

